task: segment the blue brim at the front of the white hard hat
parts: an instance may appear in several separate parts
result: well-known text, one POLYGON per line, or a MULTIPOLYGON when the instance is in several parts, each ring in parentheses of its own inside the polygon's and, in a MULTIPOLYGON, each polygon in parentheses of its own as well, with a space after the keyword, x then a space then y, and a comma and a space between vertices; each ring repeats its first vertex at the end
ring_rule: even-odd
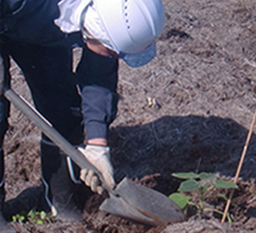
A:
POLYGON ((147 50, 143 51, 139 54, 126 54, 126 53, 120 53, 118 54, 121 59, 128 64, 130 67, 140 67, 144 66, 148 62, 150 62, 156 53, 157 49, 155 47, 155 43, 152 44, 151 47, 149 47, 147 50))

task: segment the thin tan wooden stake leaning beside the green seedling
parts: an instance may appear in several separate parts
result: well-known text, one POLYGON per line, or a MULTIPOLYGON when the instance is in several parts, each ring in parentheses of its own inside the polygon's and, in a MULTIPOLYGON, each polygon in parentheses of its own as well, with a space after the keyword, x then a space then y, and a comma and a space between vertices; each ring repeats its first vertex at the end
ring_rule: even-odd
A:
MULTIPOLYGON (((249 130, 248 135, 247 135, 245 146, 243 147, 243 151, 242 151, 242 155, 241 155, 240 162, 239 162, 239 165, 238 165, 238 169, 236 170, 235 179, 234 179, 235 184, 238 182, 238 177, 239 177, 239 174, 240 174, 240 171, 241 171, 241 168, 242 168, 243 160, 245 159, 245 154, 246 154, 246 151, 247 151, 247 147, 249 145, 249 141, 250 141, 251 136, 252 136, 252 131, 253 131, 253 127, 255 125, 255 121, 256 121, 256 109, 255 109, 255 113, 254 113, 254 116, 253 116, 253 119, 252 119, 252 124, 251 124, 250 130, 249 130)), ((221 223, 223 223, 225 221, 226 217, 227 217, 228 209, 229 209, 229 206, 230 206, 231 199, 232 199, 233 195, 234 195, 234 190, 231 191, 230 196, 228 198, 226 208, 224 210, 224 213, 223 213, 223 216, 222 216, 222 219, 221 219, 221 223)))

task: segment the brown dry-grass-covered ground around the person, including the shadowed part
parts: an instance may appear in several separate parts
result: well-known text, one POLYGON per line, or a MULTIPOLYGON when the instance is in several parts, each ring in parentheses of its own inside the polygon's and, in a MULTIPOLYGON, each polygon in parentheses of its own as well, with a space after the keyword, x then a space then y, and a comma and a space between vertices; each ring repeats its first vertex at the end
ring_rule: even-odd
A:
MULTIPOLYGON (((120 102, 110 146, 116 180, 127 176, 169 195, 179 184, 172 172, 234 177, 256 108, 256 3, 164 0, 164 5, 166 26, 157 57, 138 69, 120 62, 120 102)), ((22 73, 15 66, 12 72, 13 88, 29 99, 22 73)), ((10 125, 4 144, 7 200, 41 184, 39 130, 15 108, 10 125)), ((235 223, 195 215, 187 222, 146 228, 97 211, 102 199, 95 195, 88 201, 90 215, 79 224, 13 225, 22 233, 255 232, 255 132, 234 195, 235 223)), ((217 208, 223 210, 224 204, 218 201, 217 208)))

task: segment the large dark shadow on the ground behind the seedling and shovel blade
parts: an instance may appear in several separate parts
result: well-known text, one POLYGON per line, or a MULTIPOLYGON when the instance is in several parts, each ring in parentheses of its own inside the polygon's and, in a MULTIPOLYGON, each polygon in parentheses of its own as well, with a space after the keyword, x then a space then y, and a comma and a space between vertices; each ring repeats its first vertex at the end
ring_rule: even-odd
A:
MULTIPOLYGON (((234 177, 247 134, 232 119, 196 115, 165 116, 145 125, 111 128, 116 179, 155 174, 161 180, 155 188, 168 194, 176 189, 173 172, 217 172, 234 177)), ((242 166, 243 179, 256 177, 255 151, 253 134, 242 166)))

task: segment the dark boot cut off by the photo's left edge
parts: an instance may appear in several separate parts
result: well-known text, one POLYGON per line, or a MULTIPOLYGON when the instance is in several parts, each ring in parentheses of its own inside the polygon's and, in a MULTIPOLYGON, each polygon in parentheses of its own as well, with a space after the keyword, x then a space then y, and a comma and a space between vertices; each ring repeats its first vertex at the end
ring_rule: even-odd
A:
POLYGON ((17 233, 3 216, 4 196, 4 154, 0 143, 0 231, 1 233, 17 233))

